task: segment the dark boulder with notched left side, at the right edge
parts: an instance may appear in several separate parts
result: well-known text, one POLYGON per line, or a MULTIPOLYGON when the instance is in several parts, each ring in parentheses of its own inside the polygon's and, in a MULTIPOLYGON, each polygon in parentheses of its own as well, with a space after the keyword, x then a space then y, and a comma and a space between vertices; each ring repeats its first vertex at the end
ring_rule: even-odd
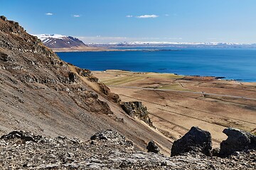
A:
POLYGON ((223 133, 227 140, 220 143, 220 156, 228 156, 234 152, 256 149, 256 136, 235 128, 226 128, 223 133))

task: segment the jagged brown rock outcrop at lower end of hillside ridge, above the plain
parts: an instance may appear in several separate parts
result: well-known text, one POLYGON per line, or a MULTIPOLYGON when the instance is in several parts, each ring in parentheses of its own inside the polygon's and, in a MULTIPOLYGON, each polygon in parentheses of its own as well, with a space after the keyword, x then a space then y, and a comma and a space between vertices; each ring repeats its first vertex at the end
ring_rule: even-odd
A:
POLYGON ((121 103, 122 109, 127 113, 129 116, 143 120, 145 123, 153 126, 149 118, 149 113, 146 111, 146 107, 142 105, 140 101, 132 101, 132 102, 122 102, 121 103))

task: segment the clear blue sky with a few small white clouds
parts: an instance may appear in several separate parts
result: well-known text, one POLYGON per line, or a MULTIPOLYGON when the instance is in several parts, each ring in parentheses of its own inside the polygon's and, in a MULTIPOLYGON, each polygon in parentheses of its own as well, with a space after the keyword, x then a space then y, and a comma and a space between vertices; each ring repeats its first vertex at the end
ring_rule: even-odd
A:
POLYGON ((0 0, 30 34, 85 43, 256 42, 256 0, 0 0))

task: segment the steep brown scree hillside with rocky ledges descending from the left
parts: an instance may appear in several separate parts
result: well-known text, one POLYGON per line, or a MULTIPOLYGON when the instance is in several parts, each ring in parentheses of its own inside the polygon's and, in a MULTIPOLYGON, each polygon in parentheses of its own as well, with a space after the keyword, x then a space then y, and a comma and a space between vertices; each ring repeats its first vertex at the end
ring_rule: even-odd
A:
POLYGON ((127 115, 119 96, 90 70, 60 60, 36 36, 4 16, 0 18, 0 108, 0 135, 26 130, 88 140, 95 132, 112 128, 137 148, 145 149, 154 140, 161 153, 170 152, 169 139, 127 115))

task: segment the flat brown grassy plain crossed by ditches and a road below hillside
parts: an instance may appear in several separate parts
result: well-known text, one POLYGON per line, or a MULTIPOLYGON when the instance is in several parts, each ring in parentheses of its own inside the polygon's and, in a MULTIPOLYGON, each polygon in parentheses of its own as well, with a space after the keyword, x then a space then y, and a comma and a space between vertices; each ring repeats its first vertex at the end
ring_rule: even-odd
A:
POLYGON ((256 133, 256 83, 120 70, 93 72, 122 101, 142 101, 154 126, 171 141, 191 126, 208 130, 213 147, 224 128, 256 133))

